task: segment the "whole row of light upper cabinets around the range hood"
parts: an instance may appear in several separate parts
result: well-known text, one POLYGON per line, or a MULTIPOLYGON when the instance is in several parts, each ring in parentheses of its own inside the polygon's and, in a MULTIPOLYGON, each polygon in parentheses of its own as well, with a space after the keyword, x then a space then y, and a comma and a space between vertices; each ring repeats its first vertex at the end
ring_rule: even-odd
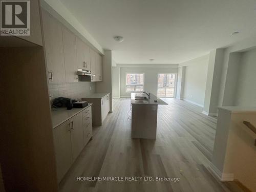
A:
MULTIPOLYGON (((102 81, 102 57, 42 9, 45 53, 50 83, 78 82, 77 69, 91 70, 102 81)), ((90 80, 90 79, 89 79, 90 80)))

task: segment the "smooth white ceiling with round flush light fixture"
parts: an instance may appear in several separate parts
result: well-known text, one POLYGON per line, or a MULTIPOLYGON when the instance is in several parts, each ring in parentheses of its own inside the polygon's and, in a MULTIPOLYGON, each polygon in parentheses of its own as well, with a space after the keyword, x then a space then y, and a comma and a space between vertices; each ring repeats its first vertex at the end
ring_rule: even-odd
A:
POLYGON ((255 0, 60 1, 117 63, 181 63, 256 34, 255 0))

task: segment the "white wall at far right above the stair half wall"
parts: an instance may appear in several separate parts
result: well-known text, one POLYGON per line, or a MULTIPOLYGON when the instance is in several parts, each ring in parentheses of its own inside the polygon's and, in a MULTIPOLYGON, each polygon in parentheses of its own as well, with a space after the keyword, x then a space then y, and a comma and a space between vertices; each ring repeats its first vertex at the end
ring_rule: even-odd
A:
POLYGON ((241 54, 238 67, 236 106, 256 106, 256 49, 241 54))

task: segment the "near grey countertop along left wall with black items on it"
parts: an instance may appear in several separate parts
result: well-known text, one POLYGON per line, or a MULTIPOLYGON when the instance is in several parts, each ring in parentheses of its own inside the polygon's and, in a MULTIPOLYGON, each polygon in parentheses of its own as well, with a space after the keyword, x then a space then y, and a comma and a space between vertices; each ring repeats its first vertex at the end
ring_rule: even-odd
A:
POLYGON ((52 126, 53 129, 58 125, 62 124, 63 122, 69 120, 71 117, 75 116, 76 114, 80 113, 84 109, 87 109, 91 106, 92 103, 89 103, 88 106, 85 108, 73 108, 72 110, 67 110, 66 108, 58 108, 51 111, 52 116, 52 126))

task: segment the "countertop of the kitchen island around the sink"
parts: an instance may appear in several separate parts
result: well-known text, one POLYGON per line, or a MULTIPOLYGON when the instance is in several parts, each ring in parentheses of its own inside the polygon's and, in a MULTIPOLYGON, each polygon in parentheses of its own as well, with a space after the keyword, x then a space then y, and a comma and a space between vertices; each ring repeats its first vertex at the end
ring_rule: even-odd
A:
POLYGON ((149 100, 135 100, 135 96, 145 96, 145 97, 147 97, 147 95, 143 94, 143 93, 131 93, 131 104, 167 104, 162 99, 159 99, 157 96, 155 96, 152 93, 150 94, 150 99, 149 100), (157 102, 155 102, 155 100, 157 102))

